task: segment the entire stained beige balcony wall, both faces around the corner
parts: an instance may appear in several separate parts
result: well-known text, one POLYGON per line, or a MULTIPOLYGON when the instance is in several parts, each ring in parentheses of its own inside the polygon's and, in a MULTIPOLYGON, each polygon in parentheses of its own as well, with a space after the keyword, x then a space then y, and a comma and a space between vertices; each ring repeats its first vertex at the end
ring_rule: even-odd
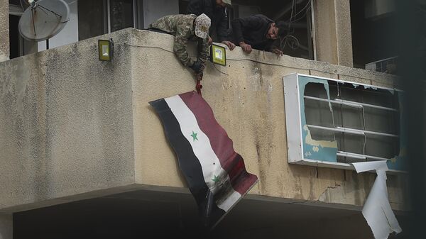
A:
MULTIPOLYGON (((192 74, 173 54, 171 35, 126 29, 111 37, 113 62, 99 62, 97 40, 88 39, 0 63, 0 211, 185 187, 148 101, 194 90, 192 74)), ((397 79, 241 48, 227 57, 226 67, 207 66, 203 96, 260 179, 250 196, 359 209, 375 174, 288 164, 283 76, 387 87, 397 79)), ((404 209, 404 177, 388 178, 392 206, 404 209)))

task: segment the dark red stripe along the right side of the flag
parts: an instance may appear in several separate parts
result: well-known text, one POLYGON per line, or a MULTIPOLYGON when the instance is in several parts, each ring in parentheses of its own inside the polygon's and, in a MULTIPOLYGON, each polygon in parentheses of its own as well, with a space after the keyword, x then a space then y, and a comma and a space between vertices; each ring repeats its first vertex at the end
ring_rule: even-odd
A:
POLYGON ((214 153, 219 158, 222 168, 228 173, 231 185, 239 194, 246 194, 257 181, 256 175, 246 171, 241 155, 234 151, 232 140, 217 123, 212 108, 195 91, 179 95, 187 107, 194 113, 200 129, 207 135, 214 153))

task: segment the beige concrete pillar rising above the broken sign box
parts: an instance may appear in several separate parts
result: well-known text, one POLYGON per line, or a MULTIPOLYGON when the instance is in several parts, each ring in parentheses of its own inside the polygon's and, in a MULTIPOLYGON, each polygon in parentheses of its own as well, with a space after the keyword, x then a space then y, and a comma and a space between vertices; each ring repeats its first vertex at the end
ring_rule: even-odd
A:
POLYGON ((349 0, 313 3, 317 60, 353 67, 349 0))

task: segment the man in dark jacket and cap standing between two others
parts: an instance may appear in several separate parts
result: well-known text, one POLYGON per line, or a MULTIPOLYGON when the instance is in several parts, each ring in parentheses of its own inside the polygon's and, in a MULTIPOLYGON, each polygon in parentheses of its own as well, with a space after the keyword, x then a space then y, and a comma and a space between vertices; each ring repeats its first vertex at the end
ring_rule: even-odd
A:
MULTIPOLYGON (((191 0, 187 6, 187 14, 200 16, 206 14, 212 19, 210 27, 210 36, 214 37, 219 43, 224 43, 233 50, 235 45, 227 40, 228 35, 228 16, 226 6, 231 6, 231 0, 191 0)), ((209 37, 209 43, 212 43, 209 37)))

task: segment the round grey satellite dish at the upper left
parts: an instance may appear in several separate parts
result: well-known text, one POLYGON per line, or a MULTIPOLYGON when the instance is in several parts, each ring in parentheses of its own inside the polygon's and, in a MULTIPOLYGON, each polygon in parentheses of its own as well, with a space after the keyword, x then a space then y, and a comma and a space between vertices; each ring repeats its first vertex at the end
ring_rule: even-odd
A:
POLYGON ((70 8, 63 0, 28 1, 30 6, 19 20, 19 33, 27 40, 52 38, 70 21, 70 8))

